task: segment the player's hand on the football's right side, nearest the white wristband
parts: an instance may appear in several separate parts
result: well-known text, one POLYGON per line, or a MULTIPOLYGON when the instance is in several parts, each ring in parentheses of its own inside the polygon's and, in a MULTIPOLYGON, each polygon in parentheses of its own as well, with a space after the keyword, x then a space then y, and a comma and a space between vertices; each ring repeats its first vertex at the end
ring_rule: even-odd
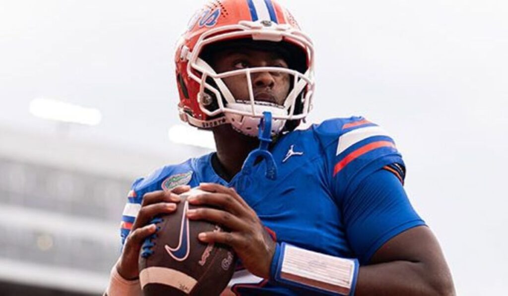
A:
POLYGON ((206 243, 216 242, 231 246, 248 271, 253 275, 269 278, 276 243, 256 212, 232 188, 212 183, 202 183, 199 188, 208 193, 189 198, 189 204, 209 205, 218 209, 187 210, 187 217, 215 222, 227 227, 231 232, 206 232, 201 233, 198 238, 206 243))

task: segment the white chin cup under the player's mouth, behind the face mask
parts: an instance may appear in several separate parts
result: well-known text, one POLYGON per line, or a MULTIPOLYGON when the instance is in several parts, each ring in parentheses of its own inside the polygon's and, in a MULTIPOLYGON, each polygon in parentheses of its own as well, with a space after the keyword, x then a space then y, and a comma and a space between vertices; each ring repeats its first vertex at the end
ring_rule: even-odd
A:
MULTIPOLYGON (((252 112, 252 106, 250 104, 245 103, 228 103, 227 108, 243 112, 252 112)), ((263 114, 263 112, 265 111, 271 112, 273 117, 288 115, 288 111, 286 111, 283 107, 256 104, 254 106, 254 110, 256 114, 260 115, 263 114)), ((259 123, 261 122, 261 117, 240 115, 231 112, 224 113, 226 116, 226 121, 228 123, 231 123, 231 126, 233 126, 235 130, 250 137, 258 137, 259 123)), ((271 135, 272 136, 278 135, 282 130, 282 128, 284 127, 285 122, 286 122, 285 119, 272 119, 271 135)))

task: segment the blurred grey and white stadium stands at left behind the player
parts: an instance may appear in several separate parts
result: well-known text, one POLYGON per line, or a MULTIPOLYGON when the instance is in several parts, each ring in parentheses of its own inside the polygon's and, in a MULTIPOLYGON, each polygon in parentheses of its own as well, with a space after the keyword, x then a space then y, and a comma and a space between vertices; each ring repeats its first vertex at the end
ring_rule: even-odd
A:
POLYGON ((0 135, 0 294, 101 294, 126 193, 168 159, 2 127, 0 135))

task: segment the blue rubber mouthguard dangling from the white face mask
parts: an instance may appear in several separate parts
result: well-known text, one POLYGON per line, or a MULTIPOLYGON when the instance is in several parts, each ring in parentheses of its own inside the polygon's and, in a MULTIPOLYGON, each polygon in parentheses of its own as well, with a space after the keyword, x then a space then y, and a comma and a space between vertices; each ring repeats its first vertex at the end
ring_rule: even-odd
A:
POLYGON ((271 139, 271 128, 272 128, 272 113, 263 112, 263 118, 259 123, 258 139, 260 141, 259 148, 252 150, 245 162, 243 163, 242 170, 240 171, 240 178, 238 179, 238 189, 243 191, 252 182, 251 174, 254 167, 254 163, 258 157, 264 158, 266 162, 265 177, 269 180, 275 180, 277 178, 277 166, 273 159, 272 153, 268 151, 271 139))

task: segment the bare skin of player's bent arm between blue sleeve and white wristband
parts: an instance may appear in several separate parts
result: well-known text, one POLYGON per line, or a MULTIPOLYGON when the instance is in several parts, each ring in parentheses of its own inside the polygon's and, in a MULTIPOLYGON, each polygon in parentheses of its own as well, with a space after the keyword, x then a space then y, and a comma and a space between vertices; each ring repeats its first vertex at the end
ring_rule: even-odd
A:
POLYGON ((426 226, 385 243, 362 266, 355 295, 453 295, 452 277, 436 238, 426 226))

